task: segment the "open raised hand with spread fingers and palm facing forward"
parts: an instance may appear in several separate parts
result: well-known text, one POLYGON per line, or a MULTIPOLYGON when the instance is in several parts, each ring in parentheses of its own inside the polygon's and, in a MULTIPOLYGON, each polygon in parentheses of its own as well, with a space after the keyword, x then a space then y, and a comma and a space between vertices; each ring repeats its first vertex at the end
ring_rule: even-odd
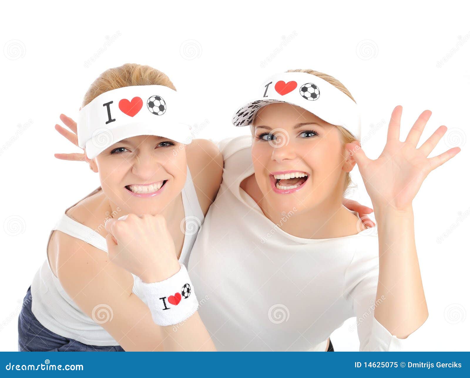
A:
POLYGON ((368 159, 357 141, 346 144, 346 149, 359 167, 375 210, 390 207, 402 211, 410 208, 426 176, 460 152, 459 147, 454 147, 438 156, 428 158, 446 133, 446 126, 440 126, 421 147, 416 148, 426 122, 431 117, 430 110, 421 113, 406 140, 400 142, 402 110, 402 106, 393 109, 388 126, 387 143, 376 160, 368 159))

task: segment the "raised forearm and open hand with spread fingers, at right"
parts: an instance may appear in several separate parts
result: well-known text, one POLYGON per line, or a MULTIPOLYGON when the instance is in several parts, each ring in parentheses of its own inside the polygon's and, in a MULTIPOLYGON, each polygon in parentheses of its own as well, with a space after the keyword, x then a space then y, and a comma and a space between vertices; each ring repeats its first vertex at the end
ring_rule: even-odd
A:
POLYGON ((427 158, 446 127, 439 127, 420 148, 416 148, 431 111, 424 111, 405 142, 399 141, 402 107, 392 112, 384 151, 376 160, 366 157, 358 143, 346 148, 359 167, 374 206, 379 239, 379 277, 375 318, 390 333, 407 338, 424 323, 428 309, 415 247, 412 201, 425 177, 453 158, 454 147, 427 158))

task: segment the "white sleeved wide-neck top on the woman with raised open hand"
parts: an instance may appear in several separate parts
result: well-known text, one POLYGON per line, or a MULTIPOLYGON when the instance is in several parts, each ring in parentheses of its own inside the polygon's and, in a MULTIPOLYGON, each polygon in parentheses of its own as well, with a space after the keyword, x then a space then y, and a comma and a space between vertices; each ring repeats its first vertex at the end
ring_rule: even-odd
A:
POLYGON ((330 334, 356 317, 360 351, 406 350, 412 335, 398 339, 374 317, 381 302, 376 227, 330 239, 282 231, 240 188, 254 173, 251 136, 220 147, 223 181, 188 263, 216 348, 324 351, 330 334))

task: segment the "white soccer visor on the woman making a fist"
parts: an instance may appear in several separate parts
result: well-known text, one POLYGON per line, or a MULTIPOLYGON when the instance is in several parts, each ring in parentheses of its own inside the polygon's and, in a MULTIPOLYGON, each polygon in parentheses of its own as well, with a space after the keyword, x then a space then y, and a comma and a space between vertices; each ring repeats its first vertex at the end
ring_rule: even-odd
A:
POLYGON ((78 113, 78 145, 93 159, 122 139, 155 135, 189 144, 180 95, 163 85, 133 85, 107 91, 78 113))

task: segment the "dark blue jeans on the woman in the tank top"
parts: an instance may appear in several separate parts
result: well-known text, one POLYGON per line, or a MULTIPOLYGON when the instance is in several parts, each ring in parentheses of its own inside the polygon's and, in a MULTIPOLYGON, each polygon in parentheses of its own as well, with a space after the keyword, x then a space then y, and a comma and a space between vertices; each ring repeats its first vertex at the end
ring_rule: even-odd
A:
POLYGON ((49 331, 31 311, 31 286, 26 292, 18 317, 18 351, 20 352, 124 352, 120 346, 102 347, 83 344, 49 331))

